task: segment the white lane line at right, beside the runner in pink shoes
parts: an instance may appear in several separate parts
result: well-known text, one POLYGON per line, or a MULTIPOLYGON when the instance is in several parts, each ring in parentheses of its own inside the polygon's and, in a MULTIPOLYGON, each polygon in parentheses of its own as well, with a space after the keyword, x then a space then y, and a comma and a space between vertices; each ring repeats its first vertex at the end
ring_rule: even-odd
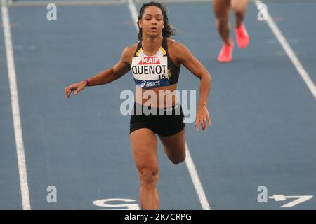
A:
MULTIPOLYGON (((259 0, 254 0, 254 3, 258 7, 259 4, 262 2, 259 0)), ((273 34, 275 34, 275 37, 277 38, 277 41, 282 45, 283 50, 287 53, 287 56, 295 66, 296 70, 298 71, 298 74, 303 78, 305 84, 308 86, 308 89, 310 92, 312 92, 312 95, 316 99, 316 86, 315 83, 312 82, 312 79, 308 75, 307 71, 305 71, 303 65, 299 61, 298 57, 296 57, 294 51, 292 50, 291 46, 287 42, 287 39, 283 36, 282 32, 279 30, 277 25, 275 24, 275 21, 270 16, 270 13, 267 10, 267 18, 266 22, 268 23, 270 29, 272 30, 273 34)))

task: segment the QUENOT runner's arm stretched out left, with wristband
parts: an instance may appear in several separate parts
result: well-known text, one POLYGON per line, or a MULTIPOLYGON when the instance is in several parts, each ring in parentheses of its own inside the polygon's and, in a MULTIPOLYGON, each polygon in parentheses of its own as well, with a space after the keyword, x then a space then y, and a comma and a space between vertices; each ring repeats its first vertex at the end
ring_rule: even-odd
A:
MULTIPOLYGON (((121 76, 124 76, 131 69, 131 58, 133 57, 133 47, 124 48, 121 53, 121 58, 119 62, 115 64, 112 68, 101 71, 96 74, 96 76, 92 76, 88 78, 88 86, 94 85, 104 85, 107 83, 111 83, 121 76)), ((68 87, 65 87, 65 96, 67 98, 70 97, 70 94, 74 92, 74 94, 78 94, 81 90, 86 88, 86 81, 81 81, 79 83, 74 83, 68 87)))

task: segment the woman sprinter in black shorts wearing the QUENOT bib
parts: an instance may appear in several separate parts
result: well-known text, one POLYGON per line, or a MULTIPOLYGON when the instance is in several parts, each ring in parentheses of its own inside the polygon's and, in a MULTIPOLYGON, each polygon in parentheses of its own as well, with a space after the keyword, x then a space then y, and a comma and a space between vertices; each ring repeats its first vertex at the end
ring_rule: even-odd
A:
POLYGON ((201 80, 195 128, 198 130, 201 125, 202 130, 205 130, 206 125, 211 125, 206 104, 211 87, 211 76, 185 45, 169 38, 174 34, 174 29, 168 23, 166 8, 162 4, 155 2, 143 4, 138 16, 138 27, 140 41, 126 47, 116 65, 87 80, 66 87, 65 95, 69 98, 71 92, 76 95, 86 86, 107 84, 132 71, 136 83, 133 111, 137 111, 136 108, 139 106, 141 111, 131 115, 129 139, 140 176, 140 206, 142 209, 159 209, 157 136, 162 141, 164 152, 171 162, 175 164, 183 162, 185 123, 182 110, 178 115, 160 114, 161 110, 170 113, 180 108, 175 95, 166 94, 166 102, 172 102, 169 107, 166 107, 166 102, 159 102, 159 97, 143 99, 143 96, 147 91, 152 91, 157 96, 159 90, 163 92, 176 90, 180 65, 183 64, 201 80), (146 106, 148 101, 150 106, 146 106), (145 109, 159 112, 145 114, 145 109))

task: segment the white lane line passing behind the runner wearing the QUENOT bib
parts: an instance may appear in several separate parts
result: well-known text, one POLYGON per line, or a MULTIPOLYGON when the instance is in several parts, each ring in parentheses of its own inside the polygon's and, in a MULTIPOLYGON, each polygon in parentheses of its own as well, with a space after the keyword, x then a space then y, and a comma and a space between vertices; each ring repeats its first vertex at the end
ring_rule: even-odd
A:
MULTIPOLYGON (((134 21, 136 30, 138 31, 138 27, 136 25, 136 21, 138 20, 138 13, 136 10, 135 3, 132 0, 127 0, 127 3, 129 5, 129 11, 131 13, 132 20, 134 21)), ((202 208, 204 210, 211 210, 209 202, 207 201, 206 195, 204 193, 202 183, 199 180, 197 169, 195 168, 195 164, 192 160, 189 148, 187 147, 187 143, 185 143, 185 152, 187 154, 185 158, 185 165, 187 165, 187 169, 189 170, 193 185, 195 186, 195 190, 197 192, 197 196, 199 197, 199 202, 201 203, 202 208)))

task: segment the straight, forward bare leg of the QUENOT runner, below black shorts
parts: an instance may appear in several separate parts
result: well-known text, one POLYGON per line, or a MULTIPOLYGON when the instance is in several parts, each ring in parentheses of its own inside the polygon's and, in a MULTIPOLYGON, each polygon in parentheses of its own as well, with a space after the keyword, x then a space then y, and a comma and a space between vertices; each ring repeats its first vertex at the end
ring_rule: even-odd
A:
POLYGON ((140 176, 140 207, 158 209, 157 181, 159 166, 157 159, 157 137, 148 128, 140 128, 129 135, 133 158, 140 176))

